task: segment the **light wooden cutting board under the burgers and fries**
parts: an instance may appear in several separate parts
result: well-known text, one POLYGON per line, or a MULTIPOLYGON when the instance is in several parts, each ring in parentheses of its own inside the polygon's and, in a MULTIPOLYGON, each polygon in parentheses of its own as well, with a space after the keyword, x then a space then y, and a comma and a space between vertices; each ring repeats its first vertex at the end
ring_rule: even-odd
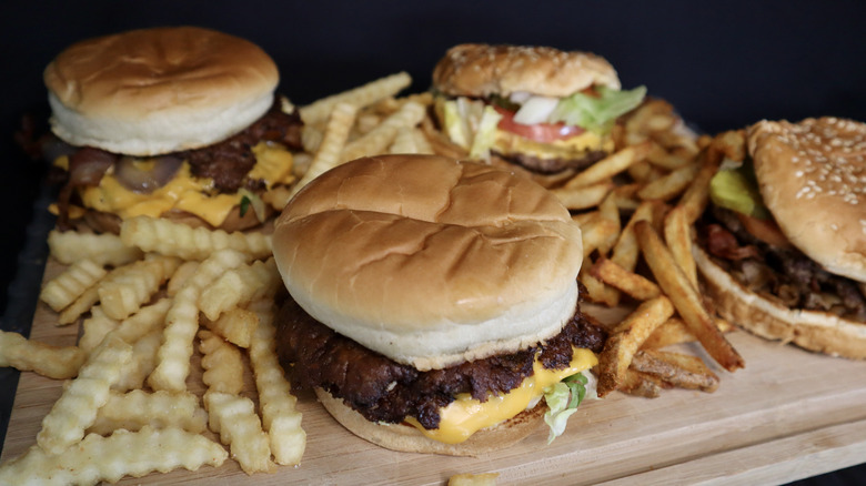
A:
MULTIPOLYGON (((49 264, 47 275, 57 269, 49 264)), ((596 310, 601 318, 614 313, 596 310)), ((57 327, 39 304, 31 337, 71 345, 77 326, 57 327)), ((712 394, 672 389, 659 398, 614 393, 587 401, 564 436, 546 445, 538 431, 518 445, 481 457, 395 453, 342 428, 311 395, 299 408, 308 444, 299 467, 248 476, 236 463, 198 472, 128 478, 121 484, 442 485, 459 473, 500 473, 499 484, 766 484, 847 467, 866 460, 866 363, 834 358, 772 343, 745 332, 729 338, 746 361, 712 394)), ((686 346, 702 353, 697 347, 686 346)), ((201 389, 198 376, 192 389, 201 389)), ((21 375, 2 460, 36 442, 42 417, 62 382, 21 375)))

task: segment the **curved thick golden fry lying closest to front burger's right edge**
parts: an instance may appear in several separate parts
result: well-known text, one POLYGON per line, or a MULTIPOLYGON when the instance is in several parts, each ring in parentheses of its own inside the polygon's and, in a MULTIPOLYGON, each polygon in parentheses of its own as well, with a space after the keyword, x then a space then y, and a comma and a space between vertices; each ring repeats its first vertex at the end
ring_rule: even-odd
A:
POLYGON ((659 295, 642 303, 614 327, 598 356, 600 397, 617 389, 624 383, 632 356, 673 313, 671 301, 659 295))

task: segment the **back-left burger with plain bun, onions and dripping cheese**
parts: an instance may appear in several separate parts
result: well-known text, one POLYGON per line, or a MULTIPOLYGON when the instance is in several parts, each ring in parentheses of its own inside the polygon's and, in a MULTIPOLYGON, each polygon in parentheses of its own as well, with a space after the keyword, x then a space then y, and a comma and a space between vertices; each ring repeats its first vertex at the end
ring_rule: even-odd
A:
POLYGON ((293 179, 300 117, 275 95, 273 60, 246 40, 197 27, 89 39, 57 55, 44 82, 61 227, 118 232, 149 215, 242 230, 293 179))

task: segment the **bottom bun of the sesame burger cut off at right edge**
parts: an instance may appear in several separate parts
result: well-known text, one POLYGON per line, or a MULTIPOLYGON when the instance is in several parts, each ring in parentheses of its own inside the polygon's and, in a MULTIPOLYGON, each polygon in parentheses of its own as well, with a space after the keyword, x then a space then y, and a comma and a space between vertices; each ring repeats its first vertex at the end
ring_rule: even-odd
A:
POLYGON ((828 312, 792 310, 735 281, 701 247, 693 246, 706 290, 722 317, 761 337, 794 343, 809 351, 866 358, 866 323, 828 312))

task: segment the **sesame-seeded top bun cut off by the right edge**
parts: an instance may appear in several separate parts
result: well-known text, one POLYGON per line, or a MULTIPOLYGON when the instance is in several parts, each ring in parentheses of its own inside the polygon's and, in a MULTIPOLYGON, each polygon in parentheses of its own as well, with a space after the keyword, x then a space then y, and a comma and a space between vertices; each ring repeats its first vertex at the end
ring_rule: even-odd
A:
POLYGON ((792 244, 828 272, 866 282, 866 124, 762 121, 748 129, 748 151, 792 244))

